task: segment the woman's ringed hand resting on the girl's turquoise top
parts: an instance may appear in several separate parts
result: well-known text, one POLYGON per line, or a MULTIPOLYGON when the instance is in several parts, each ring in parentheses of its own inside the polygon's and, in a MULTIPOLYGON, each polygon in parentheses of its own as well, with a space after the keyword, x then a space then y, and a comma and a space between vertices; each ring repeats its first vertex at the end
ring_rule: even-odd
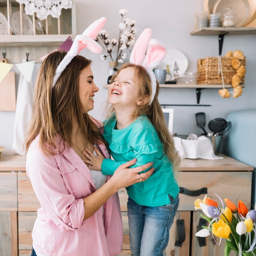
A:
POLYGON ((149 162, 147 164, 135 167, 135 168, 128 168, 136 163, 137 159, 132 159, 129 162, 121 164, 111 179, 108 182, 114 182, 117 190, 121 188, 125 188, 135 184, 137 182, 143 182, 150 177, 150 175, 154 171, 154 167, 150 168, 153 165, 153 162, 149 162), (141 173, 145 171, 147 168, 150 168, 145 173, 141 173))

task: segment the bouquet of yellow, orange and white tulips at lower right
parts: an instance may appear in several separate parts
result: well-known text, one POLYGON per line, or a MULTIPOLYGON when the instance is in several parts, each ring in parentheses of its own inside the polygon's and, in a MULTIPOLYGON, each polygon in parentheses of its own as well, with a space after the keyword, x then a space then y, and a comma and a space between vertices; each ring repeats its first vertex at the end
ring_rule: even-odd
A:
POLYGON ((241 200, 236 206, 227 198, 224 199, 224 208, 223 201, 216 196, 220 199, 221 207, 207 195, 203 200, 195 200, 195 210, 201 209, 205 215, 200 216, 209 222, 208 227, 204 226, 195 236, 207 237, 211 232, 215 241, 216 237, 220 238, 219 243, 216 241, 218 245, 225 238, 224 256, 229 256, 232 250, 239 256, 256 256, 256 210, 248 211, 241 200))

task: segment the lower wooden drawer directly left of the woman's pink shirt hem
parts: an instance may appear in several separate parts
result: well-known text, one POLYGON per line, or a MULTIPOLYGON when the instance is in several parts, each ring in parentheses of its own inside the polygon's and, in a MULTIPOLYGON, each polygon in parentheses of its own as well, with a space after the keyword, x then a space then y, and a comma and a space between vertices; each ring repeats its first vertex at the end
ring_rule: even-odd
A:
MULTIPOLYGON (((18 213, 18 241, 19 250, 31 250, 32 237, 31 233, 36 221, 36 212, 19 212, 18 213)), ((30 252, 31 254, 31 252, 30 252)))

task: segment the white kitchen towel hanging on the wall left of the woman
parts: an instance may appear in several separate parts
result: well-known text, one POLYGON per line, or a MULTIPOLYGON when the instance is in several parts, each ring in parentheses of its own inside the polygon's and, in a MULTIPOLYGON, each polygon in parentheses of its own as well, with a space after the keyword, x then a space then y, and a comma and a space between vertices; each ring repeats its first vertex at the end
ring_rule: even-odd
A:
POLYGON ((18 155, 26 155, 24 142, 27 132, 27 124, 29 123, 32 113, 33 94, 34 88, 32 81, 30 80, 30 82, 28 82, 27 79, 25 79, 25 76, 20 74, 12 145, 13 153, 18 155))

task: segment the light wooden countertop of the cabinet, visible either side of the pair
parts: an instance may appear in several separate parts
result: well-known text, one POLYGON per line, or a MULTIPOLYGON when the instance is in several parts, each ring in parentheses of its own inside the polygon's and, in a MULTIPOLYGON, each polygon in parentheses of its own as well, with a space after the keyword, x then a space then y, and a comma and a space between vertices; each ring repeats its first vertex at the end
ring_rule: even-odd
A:
MULTIPOLYGON (((231 157, 219 154, 223 159, 183 159, 180 171, 252 171, 254 167, 243 164, 231 157)), ((0 172, 26 171, 26 156, 14 155, 11 151, 2 152, 0 172)))

